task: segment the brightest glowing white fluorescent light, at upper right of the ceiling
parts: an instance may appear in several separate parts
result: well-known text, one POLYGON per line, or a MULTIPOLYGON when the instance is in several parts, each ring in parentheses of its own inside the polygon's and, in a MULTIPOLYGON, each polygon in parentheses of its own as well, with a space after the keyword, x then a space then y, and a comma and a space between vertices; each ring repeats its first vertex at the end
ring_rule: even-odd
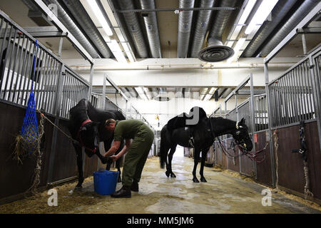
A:
POLYGON ((270 14, 278 0, 263 0, 260 4, 258 11, 255 12, 253 19, 245 29, 245 34, 250 34, 257 24, 263 24, 267 16, 270 14))

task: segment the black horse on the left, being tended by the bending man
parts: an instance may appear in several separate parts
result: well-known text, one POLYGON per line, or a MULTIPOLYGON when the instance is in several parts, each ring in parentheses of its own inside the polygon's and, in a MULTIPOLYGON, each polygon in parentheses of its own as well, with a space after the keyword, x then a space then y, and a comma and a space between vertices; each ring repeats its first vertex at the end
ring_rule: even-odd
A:
MULTIPOLYGON (((111 148, 113 135, 105 128, 105 121, 113 118, 114 120, 125 120, 123 113, 118 110, 101 110, 93 107, 89 100, 82 99, 76 106, 69 110, 68 129, 73 138, 73 147, 75 147, 78 166, 78 184, 81 188, 83 183, 83 155, 81 148, 85 148, 86 155, 92 157, 97 155, 103 164, 107 163, 106 170, 111 167, 112 159, 107 159, 99 151, 99 142, 104 143, 105 151, 111 148)), ((123 143, 116 153, 123 148, 123 143)), ((120 159, 116 162, 118 168, 118 182, 121 182, 120 159)))

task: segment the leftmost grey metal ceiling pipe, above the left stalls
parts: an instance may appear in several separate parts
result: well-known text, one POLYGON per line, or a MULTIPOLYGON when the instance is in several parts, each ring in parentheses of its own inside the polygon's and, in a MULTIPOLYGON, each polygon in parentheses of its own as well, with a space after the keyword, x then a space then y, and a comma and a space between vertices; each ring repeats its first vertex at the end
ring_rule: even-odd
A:
POLYGON ((93 58, 100 58, 98 52, 93 48, 91 43, 88 41, 85 35, 83 35, 82 31, 76 26, 76 24, 73 22, 70 16, 66 13, 66 11, 61 7, 61 5, 58 3, 57 0, 49 0, 51 4, 55 4, 57 6, 57 13, 56 15, 58 19, 61 21, 61 23, 66 26, 68 31, 70 31, 73 36, 77 39, 79 43, 83 46, 83 48, 88 51, 89 55, 93 58))

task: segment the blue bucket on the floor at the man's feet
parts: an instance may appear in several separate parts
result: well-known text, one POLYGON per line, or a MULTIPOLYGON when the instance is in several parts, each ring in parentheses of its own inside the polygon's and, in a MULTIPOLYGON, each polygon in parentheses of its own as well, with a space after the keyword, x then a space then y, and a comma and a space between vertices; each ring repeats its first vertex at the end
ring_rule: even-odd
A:
POLYGON ((99 195, 111 195, 115 192, 118 179, 118 171, 93 172, 93 188, 99 195))

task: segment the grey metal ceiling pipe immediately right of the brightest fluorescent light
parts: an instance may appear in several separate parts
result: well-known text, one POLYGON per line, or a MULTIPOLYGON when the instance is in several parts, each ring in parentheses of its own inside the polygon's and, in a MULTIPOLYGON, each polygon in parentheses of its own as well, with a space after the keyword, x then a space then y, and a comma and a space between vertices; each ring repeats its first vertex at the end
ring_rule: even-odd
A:
POLYGON ((260 28, 260 32, 255 34, 248 46, 245 48, 245 51, 243 51, 243 57, 252 57, 255 55, 258 48, 260 48, 266 38, 270 36, 276 26, 280 24, 280 21, 284 19, 287 12, 290 11, 296 2, 297 0, 278 1, 277 5, 271 12, 272 21, 265 21, 260 28))

